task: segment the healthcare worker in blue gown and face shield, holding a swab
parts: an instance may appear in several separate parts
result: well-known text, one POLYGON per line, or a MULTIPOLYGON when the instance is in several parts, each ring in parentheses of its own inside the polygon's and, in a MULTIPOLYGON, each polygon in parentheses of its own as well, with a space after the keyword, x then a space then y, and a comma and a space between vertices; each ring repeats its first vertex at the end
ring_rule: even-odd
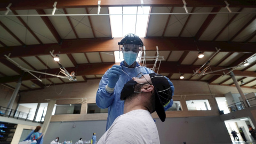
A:
MULTIPOLYGON (((96 104, 99 108, 108 108, 108 118, 106 130, 109 129, 115 119, 124 114, 124 101, 120 100, 120 93, 126 82, 132 77, 141 77, 141 75, 155 73, 153 70, 141 67, 136 61, 139 51, 142 51, 143 42, 134 34, 127 34, 118 45, 122 45, 124 61, 120 66, 114 65, 108 69, 102 76, 99 83, 99 89, 96 95, 96 104)), ((120 49, 119 49, 120 50, 120 49)), ((167 78, 169 79, 169 78, 167 78)), ((172 95, 174 94, 174 86, 171 85, 172 95)), ((164 109, 169 109, 173 104, 173 100, 164 103, 164 109)))

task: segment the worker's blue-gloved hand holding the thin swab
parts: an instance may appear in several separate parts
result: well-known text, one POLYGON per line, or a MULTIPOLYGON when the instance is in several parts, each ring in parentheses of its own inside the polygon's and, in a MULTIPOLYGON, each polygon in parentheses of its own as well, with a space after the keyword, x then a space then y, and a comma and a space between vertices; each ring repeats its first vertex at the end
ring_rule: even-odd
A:
POLYGON ((119 76, 122 74, 122 67, 118 65, 114 65, 111 67, 108 73, 108 87, 114 88, 119 79, 119 76))

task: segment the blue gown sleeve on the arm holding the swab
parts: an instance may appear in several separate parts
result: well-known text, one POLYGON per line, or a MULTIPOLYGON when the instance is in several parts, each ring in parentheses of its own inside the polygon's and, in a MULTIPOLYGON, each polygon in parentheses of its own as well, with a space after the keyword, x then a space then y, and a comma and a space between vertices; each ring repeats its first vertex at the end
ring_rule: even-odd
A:
POLYGON ((114 95, 115 92, 109 93, 106 91, 106 85, 108 84, 108 73, 109 73, 108 69, 106 71, 106 73, 102 76, 100 83, 99 83, 99 89, 97 91, 96 94, 96 104, 99 108, 101 109, 105 109, 108 108, 109 106, 111 106, 114 97, 112 97, 114 95))

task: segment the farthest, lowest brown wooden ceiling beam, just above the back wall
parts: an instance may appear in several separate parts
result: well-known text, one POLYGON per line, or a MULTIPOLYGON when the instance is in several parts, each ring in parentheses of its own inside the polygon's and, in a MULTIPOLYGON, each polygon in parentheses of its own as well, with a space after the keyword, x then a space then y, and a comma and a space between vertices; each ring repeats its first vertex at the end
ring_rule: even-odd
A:
MULTIPOLYGON (((150 64, 150 62, 149 62, 150 64)), ((76 76, 85 76, 85 75, 103 75, 105 72, 111 68, 113 65, 119 65, 119 63, 113 63, 113 62, 104 62, 104 63, 93 63, 93 64, 85 64, 85 65, 78 65, 77 67, 77 74, 76 76)), ((17 67, 18 68, 18 67, 17 67)), ((179 73, 182 71, 183 74, 193 74, 193 70, 196 68, 199 68, 199 66, 191 66, 191 65, 177 65, 177 62, 161 62, 161 68, 159 69, 158 73, 179 73)), ((211 67, 212 71, 220 70, 226 67, 211 67)), ((75 67, 66 68, 67 71, 74 71, 76 69, 75 67)), ((49 74, 55 74, 56 71, 58 71, 59 68, 55 69, 47 69, 47 73, 49 74)), ((45 72, 45 70, 38 70, 42 73, 45 72)), ((225 73, 228 73, 228 70, 224 70, 225 73)), ((244 76, 244 77, 256 77, 254 71, 241 71, 241 70, 234 70, 233 73, 236 76, 244 76)), ((33 73, 36 76, 42 75, 33 73)), ((223 71, 218 71, 216 73, 213 73, 213 75, 222 76, 223 71)), ((170 75, 171 76, 171 75, 170 75)), ((18 76, 4 76, 0 77, 0 83, 9 83, 9 82, 18 82, 19 79, 18 76)), ((44 77, 44 76, 43 76, 44 77)), ((46 78, 51 78, 52 76, 45 75, 46 78)), ((36 79, 35 77, 31 76, 28 73, 25 73, 25 75, 22 78, 22 81, 27 80, 33 80, 36 79)), ((200 80, 200 79, 199 79, 200 80)))

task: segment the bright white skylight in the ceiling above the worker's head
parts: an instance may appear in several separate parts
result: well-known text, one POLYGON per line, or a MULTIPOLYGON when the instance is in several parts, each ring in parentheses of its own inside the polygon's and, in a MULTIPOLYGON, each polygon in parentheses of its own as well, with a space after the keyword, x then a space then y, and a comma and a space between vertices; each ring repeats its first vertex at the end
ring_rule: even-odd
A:
POLYGON ((109 14, 131 14, 131 15, 110 15, 110 24, 113 37, 124 37, 126 34, 135 34, 145 37, 148 14, 150 6, 123 6, 109 7, 109 14), (139 14, 139 15, 136 15, 139 14))

